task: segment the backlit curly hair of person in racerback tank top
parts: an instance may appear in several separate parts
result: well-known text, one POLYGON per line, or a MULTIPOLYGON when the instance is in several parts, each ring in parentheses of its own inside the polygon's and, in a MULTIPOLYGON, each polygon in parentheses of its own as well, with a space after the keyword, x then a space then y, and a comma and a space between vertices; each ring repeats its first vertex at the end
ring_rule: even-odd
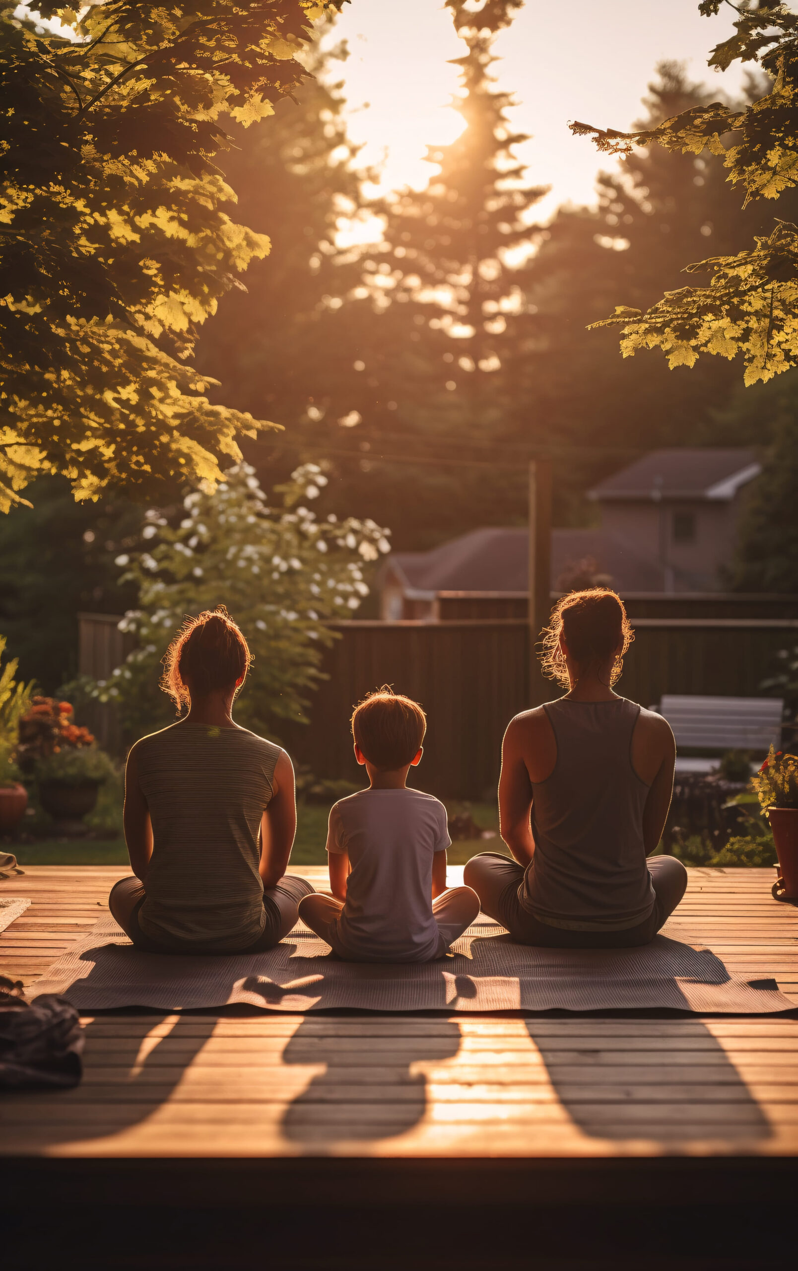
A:
POLYGON ((563 596, 543 633, 540 665, 544 675, 567 689, 569 680, 560 637, 565 638, 568 652, 583 670, 602 665, 615 653, 611 686, 624 669, 624 653, 634 639, 634 630, 623 600, 609 587, 588 587, 563 596))

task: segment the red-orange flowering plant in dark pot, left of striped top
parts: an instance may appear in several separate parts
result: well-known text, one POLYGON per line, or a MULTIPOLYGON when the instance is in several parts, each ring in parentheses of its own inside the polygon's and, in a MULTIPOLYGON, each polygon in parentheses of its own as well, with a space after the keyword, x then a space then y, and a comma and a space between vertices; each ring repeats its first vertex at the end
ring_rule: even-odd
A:
POLYGON ((38 797, 53 817, 56 834, 86 833, 83 817, 97 803, 99 787, 114 768, 88 728, 72 722, 72 707, 55 698, 32 698, 19 721, 18 763, 34 777, 38 797))

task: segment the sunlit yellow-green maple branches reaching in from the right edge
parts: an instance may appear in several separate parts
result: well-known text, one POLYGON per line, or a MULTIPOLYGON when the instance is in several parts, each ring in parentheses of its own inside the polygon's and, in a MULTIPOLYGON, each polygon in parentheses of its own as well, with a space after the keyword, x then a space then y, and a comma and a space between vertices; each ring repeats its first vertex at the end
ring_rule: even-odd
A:
MULTIPOLYGON (((701 0, 699 11, 714 17, 723 3, 737 11, 736 33, 713 50, 709 65, 724 70, 737 60, 751 62, 771 76, 769 93, 742 108, 701 103, 634 132, 579 122, 571 127, 609 154, 657 144, 722 156, 727 180, 742 192, 746 206, 778 200, 798 184, 798 14, 770 0, 756 8, 701 0)), ((709 273, 708 286, 666 292, 646 311, 618 305, 615 315, 597 325, 623 327, 624 356, 659 348, 671 367, 693 366, 700 353, 741 355, 748 385, 798 365, 798 228, 776 221, 755 241, 734 255, 685 266, 686 272, 709 273)))

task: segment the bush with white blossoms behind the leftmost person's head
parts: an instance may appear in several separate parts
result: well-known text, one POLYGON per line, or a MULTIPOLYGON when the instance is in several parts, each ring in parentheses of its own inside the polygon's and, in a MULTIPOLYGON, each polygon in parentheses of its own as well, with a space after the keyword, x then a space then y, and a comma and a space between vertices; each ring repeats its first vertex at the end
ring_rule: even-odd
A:
POLYGON ((389 531, 374 521, 315 517, 306 501, 325 484, 316 464, 304 464, 276 488, 272 507, 254 468, 238 464, 215 491, 184 498, 177 527, 147 512, 144 550, 117 557, 121 581, 139 586, 139 608, 119 624, 137 647, 89 690, 118 704, 128 737, 174 719, 158 690, 160 660, 187 614, 219 604, 254 655, 236 717, 272 733, 280 719, 305 718, 306 691, 320 676, 319 646, 334 638, 327 624, 358 609, 369 595, 366 569, 390 550, 389 531))

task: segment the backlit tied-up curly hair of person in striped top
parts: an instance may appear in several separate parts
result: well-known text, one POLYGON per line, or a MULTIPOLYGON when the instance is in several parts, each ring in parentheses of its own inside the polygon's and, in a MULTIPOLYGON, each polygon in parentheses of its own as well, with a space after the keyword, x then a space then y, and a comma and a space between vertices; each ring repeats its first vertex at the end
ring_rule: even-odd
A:
POLYGON ((187 677, 200 695, 229 689, 247 675, 252 653, 225 605, 217 605, 186 619, 164 653, 163 663, 160 686, 179 714, 183 707, 191 707, 187 677))

